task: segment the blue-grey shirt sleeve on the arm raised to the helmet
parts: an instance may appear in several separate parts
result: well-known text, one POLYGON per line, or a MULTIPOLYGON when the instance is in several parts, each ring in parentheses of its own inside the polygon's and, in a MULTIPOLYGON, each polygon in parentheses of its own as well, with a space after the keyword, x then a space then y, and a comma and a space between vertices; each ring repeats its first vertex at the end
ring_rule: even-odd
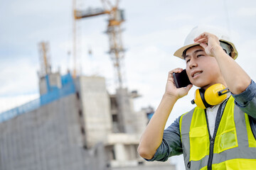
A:
POLYGON ((255 81, 251 81, 251 84, 247 86, 247 89, 241 94, 232 94, 235 98, 235 105, 237 105, 242 111, 256 118, 256 84, 255 81))

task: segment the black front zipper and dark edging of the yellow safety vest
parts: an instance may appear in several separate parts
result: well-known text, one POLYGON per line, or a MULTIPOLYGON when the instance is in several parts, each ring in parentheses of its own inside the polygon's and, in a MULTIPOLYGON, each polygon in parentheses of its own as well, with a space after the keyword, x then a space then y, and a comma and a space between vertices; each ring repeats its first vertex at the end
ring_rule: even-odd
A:
POLYGON ((209 130, 209 124, 208 124, 208 118, 207 118, 207 113, 206 113, 206 123, 207 123, 207 128, 208 128, 208 133, 209 133, 209 140, 210 140, 210 152, 209 152, 209 159, 208 159, 208 164, 207 164, 207 169, 212 170, 212 164, 213 164, 213 149, 214 149, 214 142, 215 142, 215 136, 218 130, 218 126, 220 125, 220 119, 223 114, 221 114, 221 108, 223 106, 223 103, 220 104, 220 107, 218 108, 217 115, 216 115, 216 120, 215 120, 215 127, 214 127, 214 132, 213 132, 213 137, 210 136, 210 130, 209 130))

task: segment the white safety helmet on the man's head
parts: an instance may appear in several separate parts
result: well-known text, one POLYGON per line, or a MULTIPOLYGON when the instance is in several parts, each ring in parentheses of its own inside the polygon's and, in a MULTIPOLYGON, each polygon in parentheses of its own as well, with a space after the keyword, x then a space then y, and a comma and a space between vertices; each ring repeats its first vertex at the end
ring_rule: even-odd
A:
POLYGON ((219 28, 215 28, 212 26, 196 26, 191 30, 191 32, 187 35, 184 46, 180 49, 176 50, 174 56, 180 57, 184 59, 183 55, 186 53, 188 48, 199 45, 199 43, 195 43, 193 40, 198 37, 201 33, 208 32, 216 35, 220 40, 220 46, 223 47, 223 50, 230 55, 234 60, 238 57, 238 51, 235 49, 235 45, 230 42, 230 38, 228 33, 225 33, 224 30, 220 30, 219 28))

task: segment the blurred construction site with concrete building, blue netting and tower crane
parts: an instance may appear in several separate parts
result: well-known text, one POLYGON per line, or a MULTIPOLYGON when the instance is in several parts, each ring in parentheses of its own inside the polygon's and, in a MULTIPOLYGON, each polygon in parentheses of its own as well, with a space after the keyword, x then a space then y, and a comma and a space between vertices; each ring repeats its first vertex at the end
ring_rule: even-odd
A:
POLYGON ((73 68, 53 72, 48 42, 38 42, 40 97, 0 113, 1 170, 175 170, 171 162, 146 162, 137 153, 152 108, 134 111, 138 91, 123 83, 124 9, 102 0, 103 8, 76 9, 73 1, 73 68), (107 15, 109 55, 116 89, 105 77, 78 74, 76 22, 107 15))

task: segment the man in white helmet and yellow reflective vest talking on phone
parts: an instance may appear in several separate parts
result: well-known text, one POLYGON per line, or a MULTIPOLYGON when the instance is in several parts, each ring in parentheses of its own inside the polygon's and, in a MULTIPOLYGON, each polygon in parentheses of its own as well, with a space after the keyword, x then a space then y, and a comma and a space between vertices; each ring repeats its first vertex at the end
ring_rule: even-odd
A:
POLYGON ((256 84, 235 62, 238 52, 220 32, 193 28, 185 46, 175 52, 186 61, 188 79, 201 88, 199 96, 206 104, 181 115, 164 130, 174 104, 192 87, 177 89, 173 73, 182 69, 171 70, 161 103, 139 143, 144 159, 166 161, 183 154, 186 169, 256 169, 256 84), (203 93, 212 91, 215 84, 228 87, 231 95, 208 105, 203 93))

